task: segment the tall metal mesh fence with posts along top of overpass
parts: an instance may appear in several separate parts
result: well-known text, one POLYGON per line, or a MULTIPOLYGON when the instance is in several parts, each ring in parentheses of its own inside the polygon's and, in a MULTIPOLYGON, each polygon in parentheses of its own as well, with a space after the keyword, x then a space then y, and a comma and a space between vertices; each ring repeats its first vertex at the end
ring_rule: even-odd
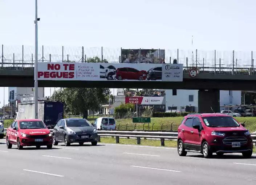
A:
MULTIPOLYGON (((121 50, 122 48, 41 46, 38 48, 38 62, 86 62, 89 57, 98 56, 99 60, 119 63, 121 50)), ((33 53, 33 46, 2 45, 0 70, 32 69, 35 60, 33 53)), ((177 59, 178 63, 183 63, 184 73, 196 68, 199 73, 255 75, 255 57, 254 51, 164 50, 165 63, 172 63, 173 59, 177 59)))

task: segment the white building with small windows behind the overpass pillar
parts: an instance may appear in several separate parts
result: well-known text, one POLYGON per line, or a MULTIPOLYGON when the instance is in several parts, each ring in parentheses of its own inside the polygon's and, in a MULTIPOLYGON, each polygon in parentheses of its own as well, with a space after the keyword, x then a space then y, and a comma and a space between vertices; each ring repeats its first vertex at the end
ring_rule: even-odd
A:
MULTIPOLYGON (((224 105, 241 105, 241 91, 220 91, 220 106, 224 105)), ((195 111, 198 111, 198 90, 166 90, 166 111, 183 112, 186 106, 195 107, 195 111)))

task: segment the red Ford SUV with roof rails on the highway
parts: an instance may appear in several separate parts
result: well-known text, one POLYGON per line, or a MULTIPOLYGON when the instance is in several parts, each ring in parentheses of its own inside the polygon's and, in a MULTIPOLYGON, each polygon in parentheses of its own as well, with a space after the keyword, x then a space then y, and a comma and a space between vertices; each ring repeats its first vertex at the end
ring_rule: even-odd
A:
POLYGON ((178 128, 178 154, 186 156, 187 152, 202 153, 205 158, 213 153, 242 153, 251 157, 252 138, 244 124, 235 118, 223 114, 188 114, 178 128))

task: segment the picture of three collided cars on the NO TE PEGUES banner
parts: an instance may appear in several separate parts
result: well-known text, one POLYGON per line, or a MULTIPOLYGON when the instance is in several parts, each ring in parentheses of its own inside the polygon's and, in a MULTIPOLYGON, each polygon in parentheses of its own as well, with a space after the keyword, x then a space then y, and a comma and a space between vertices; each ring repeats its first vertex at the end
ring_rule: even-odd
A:
POLYGON ((100 68, 102 80, 162 80, 162 64, 101 63, 100 68))

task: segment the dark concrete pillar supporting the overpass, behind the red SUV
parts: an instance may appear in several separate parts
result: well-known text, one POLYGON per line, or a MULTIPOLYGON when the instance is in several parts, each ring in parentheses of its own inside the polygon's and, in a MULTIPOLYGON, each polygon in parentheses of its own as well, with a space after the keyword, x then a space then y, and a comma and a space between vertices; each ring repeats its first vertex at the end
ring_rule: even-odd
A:
POLYGON ((198 91, 198 112, 199 113, 220 112, 220 90, 199 90, 198 91))

